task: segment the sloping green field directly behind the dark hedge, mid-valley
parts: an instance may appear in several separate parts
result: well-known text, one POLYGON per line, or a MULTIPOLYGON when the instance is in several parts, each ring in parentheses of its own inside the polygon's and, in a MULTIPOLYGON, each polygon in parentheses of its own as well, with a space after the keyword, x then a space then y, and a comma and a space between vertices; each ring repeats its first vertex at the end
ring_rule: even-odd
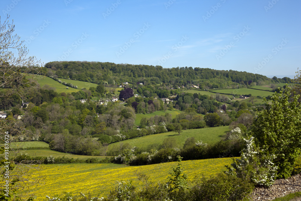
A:
POLYGON ((179 148, 183 147, 188 137, 202 140, 203 143, 213 144, 222 140, 227 131, 229 131, 229 126, 183 130, 180 135, 175 132, 159 133, 112 143, 108 146, 108 149, 119 146, 121 143, 129 143, 132 147, 147 147, 151 144, 162 144, 164 139, 171 137, 175 138, 179 148))

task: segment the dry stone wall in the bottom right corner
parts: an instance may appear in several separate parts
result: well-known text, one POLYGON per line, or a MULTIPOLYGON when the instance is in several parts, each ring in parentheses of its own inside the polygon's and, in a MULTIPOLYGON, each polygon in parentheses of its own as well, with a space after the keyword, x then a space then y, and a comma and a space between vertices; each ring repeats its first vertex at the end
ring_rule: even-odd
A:
POLYGON ((301 174, 275 180, 274 184, 268 188, 255 188, 251 196, 254 201, 273 200, 298 191, 301 192, 301 174))

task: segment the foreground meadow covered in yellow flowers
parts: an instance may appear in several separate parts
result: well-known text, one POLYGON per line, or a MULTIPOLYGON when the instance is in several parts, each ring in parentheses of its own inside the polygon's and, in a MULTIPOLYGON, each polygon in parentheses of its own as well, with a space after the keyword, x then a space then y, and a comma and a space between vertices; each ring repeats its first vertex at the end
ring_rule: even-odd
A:
MULTIPOLYGON (((38 200, 46 200, 46 195, 52 197, 65 192, 74 195, 82 192, 92 195, 106 196, 116 185, 116 181, 133 180, 135 186, 140 186, 136 172, 150 177, 154 182, 166 182, 172 167, 178 162, 161 163, 144 166, 125 166, 117 164, 52 164, 45 165, 42 174, 46 176, 45 185, 35 188, 38 200)), ((231 158, 205 159, 183 161, 182 167, 191 182, 202 174, 213 176, 225 170, 225 165, 232 163, 231 158)))

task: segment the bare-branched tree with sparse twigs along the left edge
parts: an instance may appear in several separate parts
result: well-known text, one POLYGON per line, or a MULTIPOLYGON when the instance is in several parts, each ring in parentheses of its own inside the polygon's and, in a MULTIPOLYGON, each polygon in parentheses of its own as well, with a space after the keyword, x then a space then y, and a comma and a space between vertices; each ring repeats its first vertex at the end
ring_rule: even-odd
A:
MULTIPOLYGON (((4 22, 1 20, 0 17, 0 98, 18 94, 25 100, 24 89, 36 86, 35 80, 43 77, 43 68, 35 57, 27 56, 28 50, 22 45, 20 37, 14 35, 13 21, 9 22, 9 16, 4 22)), ((39 162, 29 161, 26 155, 23 155, 21 162, 16 162, 18 150, 14 149, 13 139, 19 134, 38 138, 36 133, 19 127, 17 123, 14 118, 0 121, 0 144, 5 143, 4 147, 0 146, 0 171, 9 172, 9 177, 5 178, 4 174, 0 176, 0 200, 18 200, 19 196, 29 196, 26 191, 43 180, 39 175, 39 162), (9 193, 5 185, 9 186, 9 193)))

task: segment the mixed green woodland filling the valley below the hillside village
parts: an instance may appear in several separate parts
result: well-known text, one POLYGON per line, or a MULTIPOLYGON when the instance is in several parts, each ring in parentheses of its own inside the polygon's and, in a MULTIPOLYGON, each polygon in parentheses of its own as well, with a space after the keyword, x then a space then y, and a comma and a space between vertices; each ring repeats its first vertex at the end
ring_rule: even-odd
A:
MULTIPOLYGON (((157 93, 171 93, 171 90, 162 86, 148 85, 145 88, 157 93)), ((103 85, 71 94, 58 94, 47 85, 25 90, 30 102, 26 107, 20 108, 22 101, 17 95, 3 98, 0 106, 4 110, 11 108, 6 111, 9 118, 23 114, 22 121, 18 124, 40 133, 41 137, 33 139, 24 133, 15 133, 16 137, 21 141, 43 140, 49 143, 51 149, 83 155, 105 155, 110 143, 156 133, 180 133, 186 129, 229 125, 232 121, 248 125, 252 123, 247 120, 255 114, 253 110, 260 109, 260 106, 254 107, 251 103, 230 102, 228 97, 220 94, 207 96, 179 93, 178 90, 173 90, 178 94, 169 103, 158 97, 131 97, 126 100, 126 104, 121 105, 120 102, 109 101, 106 105, 101 105, 97 100, 92 101, 92 96, 98 96, 98 99, 106 97, 103 85), (81 102, 81 99, 86 102, 81 102), (218 101, 229 102, 231 105, 226 106, 218 101), (169 110, 175 108, 183 113, 172 119, 169 110), (165 115, 142 118, 140 127, 135 127, 135 114, 149 114, 159 110, 164 110, 165 115), (201 114, 205 115, 204 118, 201 114), (98 137, 98 141, 91 137, 98 137)), ((109 151, 108 154, 118 155, 120 151, 109 151)))

